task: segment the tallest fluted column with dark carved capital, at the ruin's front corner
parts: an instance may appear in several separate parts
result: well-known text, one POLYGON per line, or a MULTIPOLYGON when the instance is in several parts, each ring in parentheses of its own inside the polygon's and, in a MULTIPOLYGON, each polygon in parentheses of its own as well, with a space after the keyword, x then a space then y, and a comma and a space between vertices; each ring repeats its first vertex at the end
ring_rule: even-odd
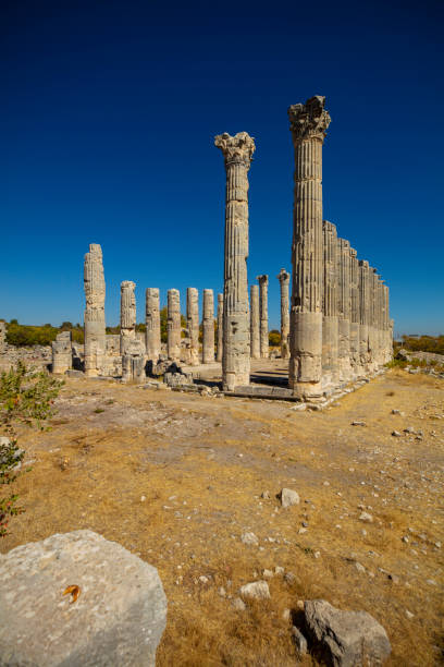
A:
POLYGON ((322 393, 322 144, 325 98, 288 109, 295 149, 288 385, 295 396, 322 393))

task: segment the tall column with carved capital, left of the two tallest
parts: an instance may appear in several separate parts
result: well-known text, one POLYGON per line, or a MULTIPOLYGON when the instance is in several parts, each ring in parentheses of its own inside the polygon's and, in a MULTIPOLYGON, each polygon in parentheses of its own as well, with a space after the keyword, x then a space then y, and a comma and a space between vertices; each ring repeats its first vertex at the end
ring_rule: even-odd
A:
POLYGON ((246 133, 214 140, 225 159, 225 262, 223 287, 222 385, 225 390, 249 384, 248 318, 248 170, 255 141, 246 133))

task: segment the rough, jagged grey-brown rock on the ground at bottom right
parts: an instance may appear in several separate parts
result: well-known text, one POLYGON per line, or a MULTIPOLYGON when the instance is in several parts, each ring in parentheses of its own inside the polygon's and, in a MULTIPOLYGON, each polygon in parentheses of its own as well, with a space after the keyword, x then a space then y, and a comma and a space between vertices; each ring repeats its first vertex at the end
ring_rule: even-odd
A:
POLYGON ((384 628, 367 611, 342 611, 312 599, 305 603, 305 619, 335 667, 375 667, 392 650, 384 628))

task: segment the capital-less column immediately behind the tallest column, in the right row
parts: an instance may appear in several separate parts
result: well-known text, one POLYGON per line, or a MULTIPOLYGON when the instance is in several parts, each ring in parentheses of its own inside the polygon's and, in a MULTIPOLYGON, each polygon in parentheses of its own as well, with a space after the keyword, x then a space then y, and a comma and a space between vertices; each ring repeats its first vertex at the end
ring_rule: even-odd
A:
POLYGON ((324 220, 323 233, 323 318, 322 318, 322 375, 325 385, 338 379, 337 324, 337 233, 335 225, 324 220))

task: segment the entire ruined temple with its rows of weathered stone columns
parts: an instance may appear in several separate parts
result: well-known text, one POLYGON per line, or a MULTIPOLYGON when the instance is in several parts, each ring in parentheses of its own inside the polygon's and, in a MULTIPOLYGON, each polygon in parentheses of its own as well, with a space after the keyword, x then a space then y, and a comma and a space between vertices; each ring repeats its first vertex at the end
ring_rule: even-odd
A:
MULTIPOLYGON (((393 322, 388 288, 377 269, 358 259, 350 243, 337 235, 336 226, 323 219, 322 148, 330 125, 325 98, 314 96, 291 106, 288 118, 295 182, 292 275, 283 268, 278 275, 280 359, 288 360, 288 386, 280 388, 280 397, 316 401, 378 372, 391 359, 393 322)), ((268 275, 250 284, 248 300, 248 171, 255 141, 246 132, 224 133, 214 145, 223 154, 226 177, 224 289, 218 294, 217 335, 213 290, 206 289, 200 347, 196 288, 186 291, 186 327, 178 290, 168 291, 166 343, 161 342, 160 293, 148 288, 146 331, 137 332, 136 286, 131 280, 121 284, 120 336, 106 335, 102 252, 92 243, 85 255, 84 351, 74 348, 69 332, 61 332, 52 344, 53 373, 71 371, 76 359, 74 367, 83 363, 87 376, 140 383, 155 374, 189 385, 201 377, 202 366, 209 366, 219 368, 223 391, 250 387, 251 360, 267 363, 270 357, 268 275), (181 369, 183 365, 188 367, 181 369)), ((0 344, 3 341, 4 326, 0 344)))

